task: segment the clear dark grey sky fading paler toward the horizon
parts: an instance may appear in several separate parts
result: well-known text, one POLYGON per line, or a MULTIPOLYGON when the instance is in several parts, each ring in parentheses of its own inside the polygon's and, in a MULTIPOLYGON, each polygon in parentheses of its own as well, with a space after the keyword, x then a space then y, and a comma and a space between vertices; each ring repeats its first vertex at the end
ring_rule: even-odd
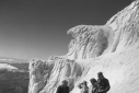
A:
POLYGON ((0 0, 0 57, 63 56, 73 26, 104 25, 131 0, 0 0))

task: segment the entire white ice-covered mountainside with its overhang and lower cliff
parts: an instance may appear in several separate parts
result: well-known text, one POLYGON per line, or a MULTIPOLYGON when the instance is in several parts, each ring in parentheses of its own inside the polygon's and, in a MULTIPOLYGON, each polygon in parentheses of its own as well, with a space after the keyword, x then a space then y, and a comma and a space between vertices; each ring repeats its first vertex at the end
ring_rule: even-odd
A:
POLYGON ((63 79, 80 93, 77 85, 99 71, 109 80, 108 93, 139 93, 139 0, 105 25, 79 25, 68 34, 73 39, 66 56, 31 60, 28 93, 56 93, 63 79))

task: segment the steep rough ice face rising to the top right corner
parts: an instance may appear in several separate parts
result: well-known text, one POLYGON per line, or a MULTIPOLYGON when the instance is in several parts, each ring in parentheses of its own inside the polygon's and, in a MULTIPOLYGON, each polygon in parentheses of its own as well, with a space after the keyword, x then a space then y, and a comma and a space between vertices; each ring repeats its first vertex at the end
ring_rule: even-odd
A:
POLYGON ((113 51, 138 44, 139 39, 139 1, 132 2, 125 10, 114 15, 106 25, 115 31, 113 51))

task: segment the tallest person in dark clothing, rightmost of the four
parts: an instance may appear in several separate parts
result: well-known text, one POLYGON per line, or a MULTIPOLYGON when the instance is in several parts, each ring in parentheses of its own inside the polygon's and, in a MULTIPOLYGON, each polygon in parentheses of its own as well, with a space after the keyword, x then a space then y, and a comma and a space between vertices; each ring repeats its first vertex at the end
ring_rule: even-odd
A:
POLYGON ((109 81, 104 78, 103 72, 99 72, 97 77, 97 93, 106 93, 107 91, 109 91, 109 81))

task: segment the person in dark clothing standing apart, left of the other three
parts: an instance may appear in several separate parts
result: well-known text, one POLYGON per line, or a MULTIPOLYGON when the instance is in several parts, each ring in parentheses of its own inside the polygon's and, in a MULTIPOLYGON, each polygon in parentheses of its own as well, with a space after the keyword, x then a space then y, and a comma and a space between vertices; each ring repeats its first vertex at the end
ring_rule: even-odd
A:
POLYGON ((57 88, 56 93, 69 93, 69 86, 67 80, 62 81, 62 84, 57 88))

